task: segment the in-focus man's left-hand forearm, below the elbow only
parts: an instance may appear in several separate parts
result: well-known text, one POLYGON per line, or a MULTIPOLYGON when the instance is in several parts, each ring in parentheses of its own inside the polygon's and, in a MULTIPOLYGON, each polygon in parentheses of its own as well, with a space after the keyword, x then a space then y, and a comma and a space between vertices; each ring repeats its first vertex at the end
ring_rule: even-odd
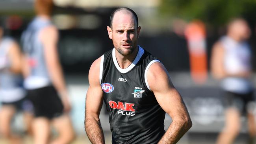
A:
POLYGON ((85 117, 85 131, 92 144, 105 144, 100 121, 92 116, 85 117))

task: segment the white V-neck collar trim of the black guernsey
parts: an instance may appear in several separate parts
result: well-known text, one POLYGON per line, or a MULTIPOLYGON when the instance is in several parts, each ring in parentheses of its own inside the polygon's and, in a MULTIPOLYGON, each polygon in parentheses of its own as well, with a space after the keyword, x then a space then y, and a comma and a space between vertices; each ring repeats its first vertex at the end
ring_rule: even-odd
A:
POLYGON ((117 58, 115 57, 115 48, 113 48, 112 50, 112 58, 113 58, 113 62, 115 64, 115 67, 117 68, 117 70, 119 72, 121 72, 122 74, 129 72, 132 68, 134 68, 134 66, 138 63, 139 59, 141 59, 141 56, 144 54, 144 50, 143 48, 139 47, 139 51, 137 56, 135 57, 134 61, 131 63, 131 65, 129 65, 127 68, 122 69, 117 62, 117 58))

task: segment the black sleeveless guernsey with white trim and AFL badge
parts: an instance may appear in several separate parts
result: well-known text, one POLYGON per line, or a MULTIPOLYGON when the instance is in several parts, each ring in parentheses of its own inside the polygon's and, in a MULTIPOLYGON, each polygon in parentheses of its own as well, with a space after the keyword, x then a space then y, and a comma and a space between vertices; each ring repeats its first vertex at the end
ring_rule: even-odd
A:
POLYGON ((150 65, 160 62, 139 47, 133 63, 120 68, 115 48, 100 61, 100 84, 109 114, 112 144, 156 144, 163 134, 165 111, 147 82, 150 65))

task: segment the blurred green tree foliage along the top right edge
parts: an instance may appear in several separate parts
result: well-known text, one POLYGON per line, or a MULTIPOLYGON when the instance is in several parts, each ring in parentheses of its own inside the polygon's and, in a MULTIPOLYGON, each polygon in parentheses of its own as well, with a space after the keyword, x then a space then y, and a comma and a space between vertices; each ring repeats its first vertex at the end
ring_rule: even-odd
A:
POLYGON ((190 21, 200 19, 213 26, 245 17, 255 24, 256 0, 161 0, 160 13, 190 21))

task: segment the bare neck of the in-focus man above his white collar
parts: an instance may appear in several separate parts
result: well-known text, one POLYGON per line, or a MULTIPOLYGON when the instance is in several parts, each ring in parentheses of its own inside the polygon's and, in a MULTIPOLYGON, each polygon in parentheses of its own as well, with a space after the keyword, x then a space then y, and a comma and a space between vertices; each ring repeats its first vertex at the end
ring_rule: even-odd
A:
POLYGON ((115 49, 115 57, 117 59, 117 62, 120 66, 120 68, 125 69, 128 66, 132 64, 134 61, 135 57, 137 56, 137 53, 139 52, 139 47, 132 52, 130 55, 122 55, 120 54, 116 49, 115 49))

